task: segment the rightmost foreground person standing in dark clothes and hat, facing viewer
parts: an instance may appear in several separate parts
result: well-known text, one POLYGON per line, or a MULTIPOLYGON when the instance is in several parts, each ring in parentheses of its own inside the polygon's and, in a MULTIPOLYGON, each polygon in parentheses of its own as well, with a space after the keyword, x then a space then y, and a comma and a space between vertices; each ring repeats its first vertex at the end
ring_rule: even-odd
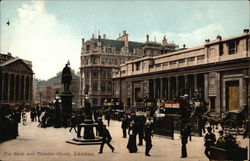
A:
POLYGON ((216 137, 215 135, 212 133, 212 128, 209 126, 207 128, 208 133, 205 135, 204 137, 204 146, 205 146, 205 155, 208 157, 208 159, 210 159, 210 148, 211 146, 214 145, 215 141, 216 141, 216 137))

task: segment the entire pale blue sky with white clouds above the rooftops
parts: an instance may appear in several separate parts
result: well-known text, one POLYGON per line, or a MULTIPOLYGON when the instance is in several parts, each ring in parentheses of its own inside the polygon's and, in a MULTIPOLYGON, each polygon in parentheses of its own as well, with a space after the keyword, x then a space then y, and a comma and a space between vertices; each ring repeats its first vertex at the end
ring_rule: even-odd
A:
POLYGON ((32 61, 34 77, 43 80, 68 60, 79 71, 81 39, 92 34, 116 39, 126 30, 130 41, 145 42, 149 34, 191 48, 250 25, 247 0, 2 0, 0 9, 0 53, 32 61))

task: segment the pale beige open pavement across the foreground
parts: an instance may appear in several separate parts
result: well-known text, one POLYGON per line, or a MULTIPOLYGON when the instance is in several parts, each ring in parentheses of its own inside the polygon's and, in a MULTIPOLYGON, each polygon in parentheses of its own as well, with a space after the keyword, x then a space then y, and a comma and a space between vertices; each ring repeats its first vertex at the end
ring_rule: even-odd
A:
MULTIPOLYGON (((107 124, 104 120, 104 124, 107 124)), ((111 121, 107 128, 112 136, 112 153, 104 145, 102 154, 98 154, 100 145, 73 145, 66 143, 76 137, 69 128, 40 128, 37 122, 26 126, 19 124, 19 136, 15 140, 0 143, 0 161, 208 161, 204 155, 203 137, 193 136, 187 144, 187 158, 180 158, 181 141, 179 134, 174 140, 158 135, 152 138, 151 156, 145 156, 145 143, 137 146, 137 153, 129 153, 128 138, 122 138, 121 122, 111 121)), ((216 132, 217 138, 218 134, 216 132)), ((138 138, 137 138, 138 141, 138 138)), ((249 139, 237 137, 241 147, 248 147, 249 139)))

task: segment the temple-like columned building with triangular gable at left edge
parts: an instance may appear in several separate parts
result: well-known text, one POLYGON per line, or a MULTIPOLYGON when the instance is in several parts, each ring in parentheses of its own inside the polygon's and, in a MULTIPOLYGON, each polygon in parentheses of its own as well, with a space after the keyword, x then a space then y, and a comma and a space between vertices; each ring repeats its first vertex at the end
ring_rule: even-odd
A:
POLYGON ((30 106, 32 82, 31 61, 0 54, 0 104, 30 106))

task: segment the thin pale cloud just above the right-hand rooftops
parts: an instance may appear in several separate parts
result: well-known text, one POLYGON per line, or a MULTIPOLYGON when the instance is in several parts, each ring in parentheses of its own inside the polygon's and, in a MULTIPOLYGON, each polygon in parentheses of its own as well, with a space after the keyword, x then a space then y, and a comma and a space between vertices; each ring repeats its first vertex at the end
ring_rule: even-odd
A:
MULTIPOLYGON (((161 41, 166 35, 168 42, 174 42, 175 44, 182 47, 183 44, 186 47, 194 47, 203 45, 205 39, 214 40, 217 35, 222 35, 225 33, 226 29, 219 23, 210 24, 208 26, 197 28, 188 33, 176 33, 176 32, 158 32, 154 31, 149 33, 150 40, 154 41, 154 37, 156 37, 156 41, 161 41)), ((139 38, 138 41, 145 42, 145 37, 139 38)))

